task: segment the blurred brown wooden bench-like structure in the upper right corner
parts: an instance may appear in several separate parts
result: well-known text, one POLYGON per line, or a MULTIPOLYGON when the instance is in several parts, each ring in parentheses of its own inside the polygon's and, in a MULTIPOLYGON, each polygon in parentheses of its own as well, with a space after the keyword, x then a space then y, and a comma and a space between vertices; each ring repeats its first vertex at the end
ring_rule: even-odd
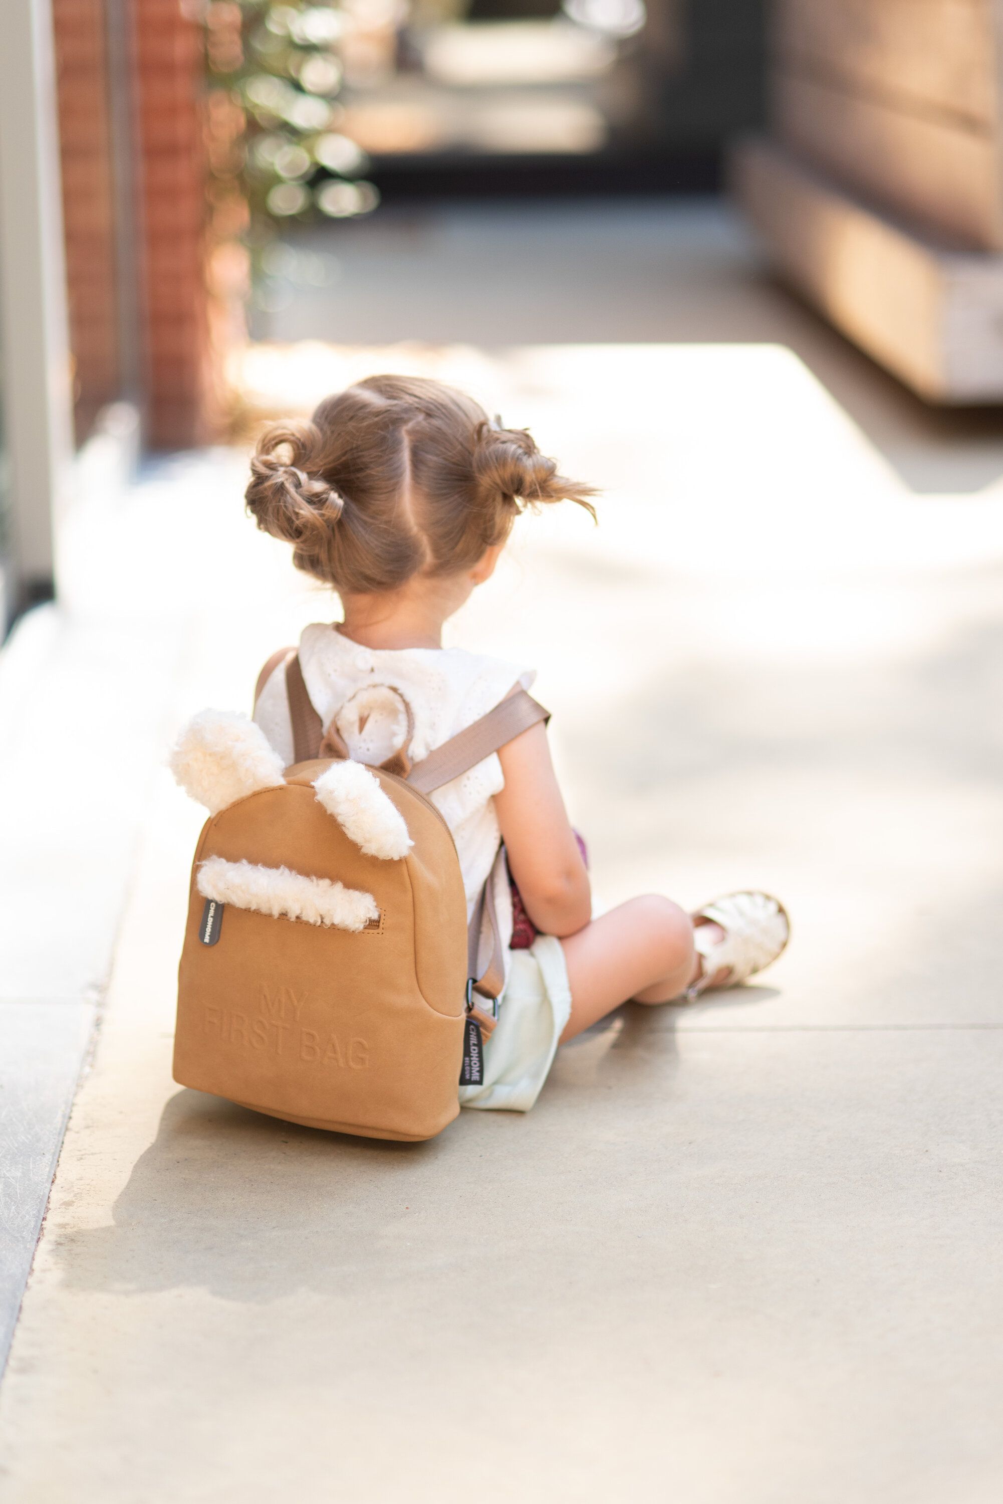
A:
POLYGON ((938 403, 1003 402, 1000 11, 777 0, 732 179, 785 275, 938 403))

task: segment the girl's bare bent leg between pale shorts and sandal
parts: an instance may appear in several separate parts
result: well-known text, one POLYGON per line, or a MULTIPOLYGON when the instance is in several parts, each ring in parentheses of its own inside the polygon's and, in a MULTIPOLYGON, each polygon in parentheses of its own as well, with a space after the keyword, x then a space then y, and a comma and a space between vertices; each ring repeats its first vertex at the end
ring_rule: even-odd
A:
POLYGON ((561 945, 571 987, 561 1044, 629 999, 668 1003, 699 976, 693 920, 669 898, 632 898, 561 945))

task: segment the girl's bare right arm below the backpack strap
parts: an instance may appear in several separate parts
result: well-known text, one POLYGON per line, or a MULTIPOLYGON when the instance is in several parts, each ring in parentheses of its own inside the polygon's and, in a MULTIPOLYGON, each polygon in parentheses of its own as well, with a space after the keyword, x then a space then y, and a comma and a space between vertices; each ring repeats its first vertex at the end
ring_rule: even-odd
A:
POLYGON ((498 754, 505 787, 495 809, 508 868, 537 929, 573 935, 592 914, 588 872, 558 788, 547 732, 531 726, 498 754))

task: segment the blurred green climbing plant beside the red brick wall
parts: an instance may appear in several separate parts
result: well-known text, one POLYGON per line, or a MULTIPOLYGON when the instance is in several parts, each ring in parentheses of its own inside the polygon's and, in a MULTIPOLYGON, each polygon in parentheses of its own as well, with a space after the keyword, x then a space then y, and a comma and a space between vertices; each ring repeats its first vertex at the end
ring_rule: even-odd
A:
POLYGON ((211 0, 205 17, 217 205, 239 193, 251 245, 268 244, 290 220, 347 220, 374 209, 368 158, 338 129, 350 11, 211 0))

